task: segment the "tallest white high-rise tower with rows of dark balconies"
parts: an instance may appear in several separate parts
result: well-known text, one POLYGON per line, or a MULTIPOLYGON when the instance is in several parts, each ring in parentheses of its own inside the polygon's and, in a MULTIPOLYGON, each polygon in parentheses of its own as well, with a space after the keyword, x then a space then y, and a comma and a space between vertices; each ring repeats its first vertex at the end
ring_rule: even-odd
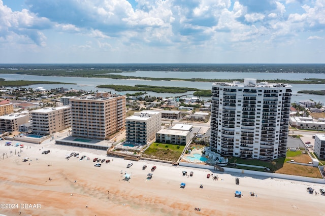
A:
POLYGON ((273 160, 285 157, 291 86, 212 84, 211 149, 222 156, 273 160))

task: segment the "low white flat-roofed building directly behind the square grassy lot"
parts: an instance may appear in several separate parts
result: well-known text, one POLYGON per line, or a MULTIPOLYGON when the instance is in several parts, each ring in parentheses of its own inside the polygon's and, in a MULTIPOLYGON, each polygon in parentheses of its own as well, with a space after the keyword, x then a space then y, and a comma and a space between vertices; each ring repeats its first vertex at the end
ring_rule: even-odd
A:
POLYGON ((191 140, 192 125, 176 124, 171 129, 161 129, 156 133, 156 142, 185 146, 191 140))

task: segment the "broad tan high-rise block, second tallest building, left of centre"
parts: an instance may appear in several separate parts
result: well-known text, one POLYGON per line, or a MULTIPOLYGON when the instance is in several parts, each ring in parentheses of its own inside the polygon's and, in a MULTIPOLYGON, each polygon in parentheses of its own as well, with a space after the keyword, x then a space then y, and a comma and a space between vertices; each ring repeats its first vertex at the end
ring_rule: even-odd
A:
POLYGON ((72 135, 111 139, 125 127, 125 95, 99 92, 70 98, 72 135))

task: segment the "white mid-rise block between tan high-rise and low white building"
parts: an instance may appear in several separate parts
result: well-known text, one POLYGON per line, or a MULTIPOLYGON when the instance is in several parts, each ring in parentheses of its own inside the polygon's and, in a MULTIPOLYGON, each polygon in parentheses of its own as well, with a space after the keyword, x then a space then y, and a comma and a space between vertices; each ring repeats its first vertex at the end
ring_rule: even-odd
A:
POLYGON ((126 118, 126 141, 136 145, 146 145, 161 129, 161 113, 142 111, 126 118))

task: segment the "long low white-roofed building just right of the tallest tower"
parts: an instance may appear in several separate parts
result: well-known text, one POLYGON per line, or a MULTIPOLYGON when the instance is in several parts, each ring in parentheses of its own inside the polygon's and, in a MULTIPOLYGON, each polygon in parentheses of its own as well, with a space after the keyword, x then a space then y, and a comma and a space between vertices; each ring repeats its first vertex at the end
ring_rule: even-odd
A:
POLYGON ((289 119, 289 124, 297 129, 325 131, 325 122, 321 119, 313 119, 312 117, 292 116, 289 119))

